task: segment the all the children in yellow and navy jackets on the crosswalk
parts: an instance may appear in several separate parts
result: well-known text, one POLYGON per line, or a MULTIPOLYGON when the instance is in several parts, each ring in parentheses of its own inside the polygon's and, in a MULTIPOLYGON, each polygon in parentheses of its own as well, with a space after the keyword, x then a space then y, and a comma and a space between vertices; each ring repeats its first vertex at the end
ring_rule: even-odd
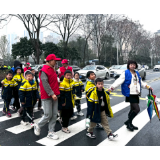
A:
MULTIPOLYGON (((11 117, 9 105, 11 99, 14 97, 14 106, 16 106, 19 114, 23 111, 21 116, 21 124, 27 125, 25 117, 28 117, 31 128, 34 126, 33 108, 37 101, 40 100, 37 82, 34 79, 35 71, 28 70, 23 74, 21 68, 16 68, 16 74, 13 77, 12 72, 8 72, 6 78, 2 80, 2 99, 4 100, 3 114, 11 117), (19 99, 22 107, 20 107, 19 99)), ((79 73, 74 74, 72 79, 72 72, 66 70, 64 76, 59 80, 60 97, 58 99, 59 117, 58 120, 62 125, 62 131, 69 134, 71 131, 68 129, 69 120, 73 118, 74 107, 77 107, 77 115, 84 116, 81 111, 81 98, 82 92, 86 93, 87 100, 87 115, 90 125, 87 129, 86 135, 90 138, 96 138, 93 134, 94 128, 104 128, 109 139, 114 139, 117 135, 112 134, 109 128, 108 117, 113 117, 113 112, 110 106, 109 93, 104 90, 103 79, 97 78, 94 72, 87 73, 86 87, 79 79, 79 73), (107 116, 106 116, 107 115, 107 116)))

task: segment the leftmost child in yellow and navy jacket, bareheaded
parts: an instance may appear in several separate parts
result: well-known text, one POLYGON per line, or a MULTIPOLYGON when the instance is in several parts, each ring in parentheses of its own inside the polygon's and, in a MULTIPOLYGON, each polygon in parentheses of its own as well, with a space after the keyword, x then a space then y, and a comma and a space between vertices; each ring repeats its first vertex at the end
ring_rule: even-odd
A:
POLYGON ((17 82, 14 81, 12 78, 13 78, 13 73, 9 71, 6 75, 6 78, 1 82, 3 84, 2 99, 4 100, 4 108, 2 112, 7 117, 11 117, 9 104, 13 97, 13 91, 15 87, 18 86, 17 82))

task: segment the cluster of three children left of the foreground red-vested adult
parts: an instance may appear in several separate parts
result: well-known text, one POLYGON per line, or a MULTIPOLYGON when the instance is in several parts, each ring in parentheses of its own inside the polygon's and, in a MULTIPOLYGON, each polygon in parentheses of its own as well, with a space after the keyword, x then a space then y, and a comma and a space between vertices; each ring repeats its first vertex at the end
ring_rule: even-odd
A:
MULTIPOLYGON (((38 85, 35 78, 35 70, 31 69, 22 73, 20 67, 16 67, 15 74, 12 71, 7 72, 6 78, 2 83, 2 99, 4 100, 4 108, 2 113, 7 117, 11 117, 10 102, 14 98, 11 109, 17 110, 19 117, 21 116, 21 124, 27 125, 25 117, 29 119, 31 128, 34 126, 33 108, 39 101, 38 85), (20 105, 21 103, 21 105, 20 105), (21 107, 20 107, 21 106, 21 107)), ((39 107, 39 110, 41 108, 39 107)))

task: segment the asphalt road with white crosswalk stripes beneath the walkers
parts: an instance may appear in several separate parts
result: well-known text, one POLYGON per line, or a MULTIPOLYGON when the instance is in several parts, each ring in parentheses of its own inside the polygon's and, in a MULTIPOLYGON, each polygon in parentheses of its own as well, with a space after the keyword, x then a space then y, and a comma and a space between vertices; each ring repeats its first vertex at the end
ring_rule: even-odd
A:
MULTIPOLYGON (((160 72, 147 71, 146 82, 154 89, 154 94, 160 98, 160 72)), ((113 78, 105 80, 105 88, 114 82, 113 78)), ((115 141, 108 141, 107 135, 103 129, 95 129, 96 139, 86 137, 85 116, 78 117, 75 121, 70 121, 70 134, 61 131, 59 122, 56 124, 56 132, 59 140, 50 140, 46 138, 48 133, 47 124, 42 128, 41 135, 35 136, 33 129, 29 126, 20 125, 20 118, 17 113, 11 111, 12 118, 3 116, 0 112, 0 145, 1 146, 160 146, 160 121, 153 115, 150 123, 145 97, 148 90, 142 90, 140 99, 141 111, 133 123, 139 127, 138 131, 130 132, 124 126, 130 109, 129 103, 125 103, 125 97, 121 94, 121 88, 117 88, 111 95, 111 106, 114 112, 114 118, 108 118, 110 128, 113 133, 118 134, 115 141)), ((86 115, 86 100, 83 97, 82 111, 86 115)), ((3 107, 3 101, 0 99, 0 111, 3 107)), ((160 107, 159 107, 160 108, 160 107)), ((75 113, 76 113, 75 109, 75 113)), ((41 118, 40 111, 35 108, 35 122, 41 118)))

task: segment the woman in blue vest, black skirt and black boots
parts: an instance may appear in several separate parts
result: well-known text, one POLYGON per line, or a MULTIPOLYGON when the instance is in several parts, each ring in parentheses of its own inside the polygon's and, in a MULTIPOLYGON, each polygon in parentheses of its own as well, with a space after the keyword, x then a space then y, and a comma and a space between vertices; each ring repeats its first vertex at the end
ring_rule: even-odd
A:
POLYGON ((130 131, 134 131, 138 130, 138 127, 135 127, 132 124, 132 121, 140 112, 139 96, 141 95, 141 89, 153 89, 149 85, 144 83, 138 71, 135 71, 135 69, 138 68, 138 65, 135 61, 128 61, 127 68, 128 70, 121 74, 121 76, 111 85, 108 91, 111 92, 121 85, 122 94, 126 96, 126 102, 130 102, 131 105, 131 109, 128 114, 128 120, 124 124, 127 125, 127 128, 130 131))

